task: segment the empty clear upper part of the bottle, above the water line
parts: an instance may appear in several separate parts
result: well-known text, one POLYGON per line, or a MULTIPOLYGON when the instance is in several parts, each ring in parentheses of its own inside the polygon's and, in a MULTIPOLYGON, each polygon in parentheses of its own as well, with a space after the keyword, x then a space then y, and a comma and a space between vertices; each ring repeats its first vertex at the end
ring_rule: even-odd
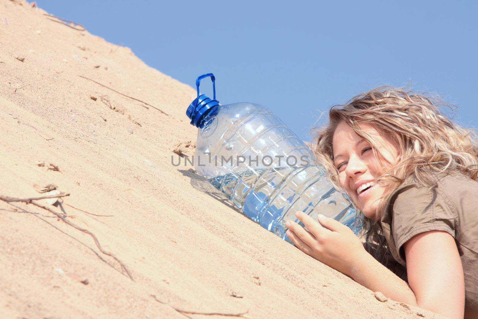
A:
POLYGON ((307 145, 258 104, 220 106, 197 136, 195 167, 207 178, 256 168, 313 164, 307 145))

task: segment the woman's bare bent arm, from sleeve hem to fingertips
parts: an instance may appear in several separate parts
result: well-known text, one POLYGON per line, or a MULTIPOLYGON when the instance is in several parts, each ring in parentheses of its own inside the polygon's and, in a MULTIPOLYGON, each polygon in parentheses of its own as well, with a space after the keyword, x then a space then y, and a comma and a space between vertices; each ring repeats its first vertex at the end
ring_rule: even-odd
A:
POLYGON ((395 301, 449 318, 463 318, 463 268, 455 241, 448 233, 428 231, 404 244, 409 286, 367 253, 347 226, 319 217, 322 228, 302 212, 296 216, 309 231, 288 221, 287 235, 304 253, 395 301))

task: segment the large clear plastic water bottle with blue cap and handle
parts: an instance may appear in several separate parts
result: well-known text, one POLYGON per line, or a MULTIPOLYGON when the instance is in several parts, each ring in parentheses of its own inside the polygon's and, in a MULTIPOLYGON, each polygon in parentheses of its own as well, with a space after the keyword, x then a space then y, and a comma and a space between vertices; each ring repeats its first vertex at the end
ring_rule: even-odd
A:
MULTIPOLYGON (((337 191, 310 149, 270 110, 252 103, 219 105, 212 73, 196 79, 197 98, 186 115, 199 128, 196 171, 250 219, 288 240, 285 222, 303 211, 334 218, 357 233, 356 212, 337 191), (211 77, 213 99, 199 95, 211 77)), ((304 226, 304 225, 302 225, 304 226)))

